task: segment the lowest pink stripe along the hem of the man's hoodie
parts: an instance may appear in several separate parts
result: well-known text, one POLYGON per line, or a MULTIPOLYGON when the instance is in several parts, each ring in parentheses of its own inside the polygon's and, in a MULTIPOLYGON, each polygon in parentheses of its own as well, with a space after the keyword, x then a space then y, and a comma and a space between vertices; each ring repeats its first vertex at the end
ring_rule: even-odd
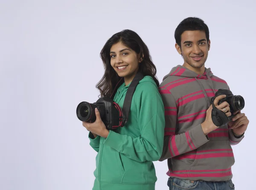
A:
MULTIPOLYGON (((193 170, 192 170, 193 171, 193 170)), ((232 172, 228 171, 228 172, 224 172, 224 173, 184 173, 184 174, 174 174, 174 173, 167 173, 168 176, 170 177, 225 177, 225 176, 231 176, 232 172)))

